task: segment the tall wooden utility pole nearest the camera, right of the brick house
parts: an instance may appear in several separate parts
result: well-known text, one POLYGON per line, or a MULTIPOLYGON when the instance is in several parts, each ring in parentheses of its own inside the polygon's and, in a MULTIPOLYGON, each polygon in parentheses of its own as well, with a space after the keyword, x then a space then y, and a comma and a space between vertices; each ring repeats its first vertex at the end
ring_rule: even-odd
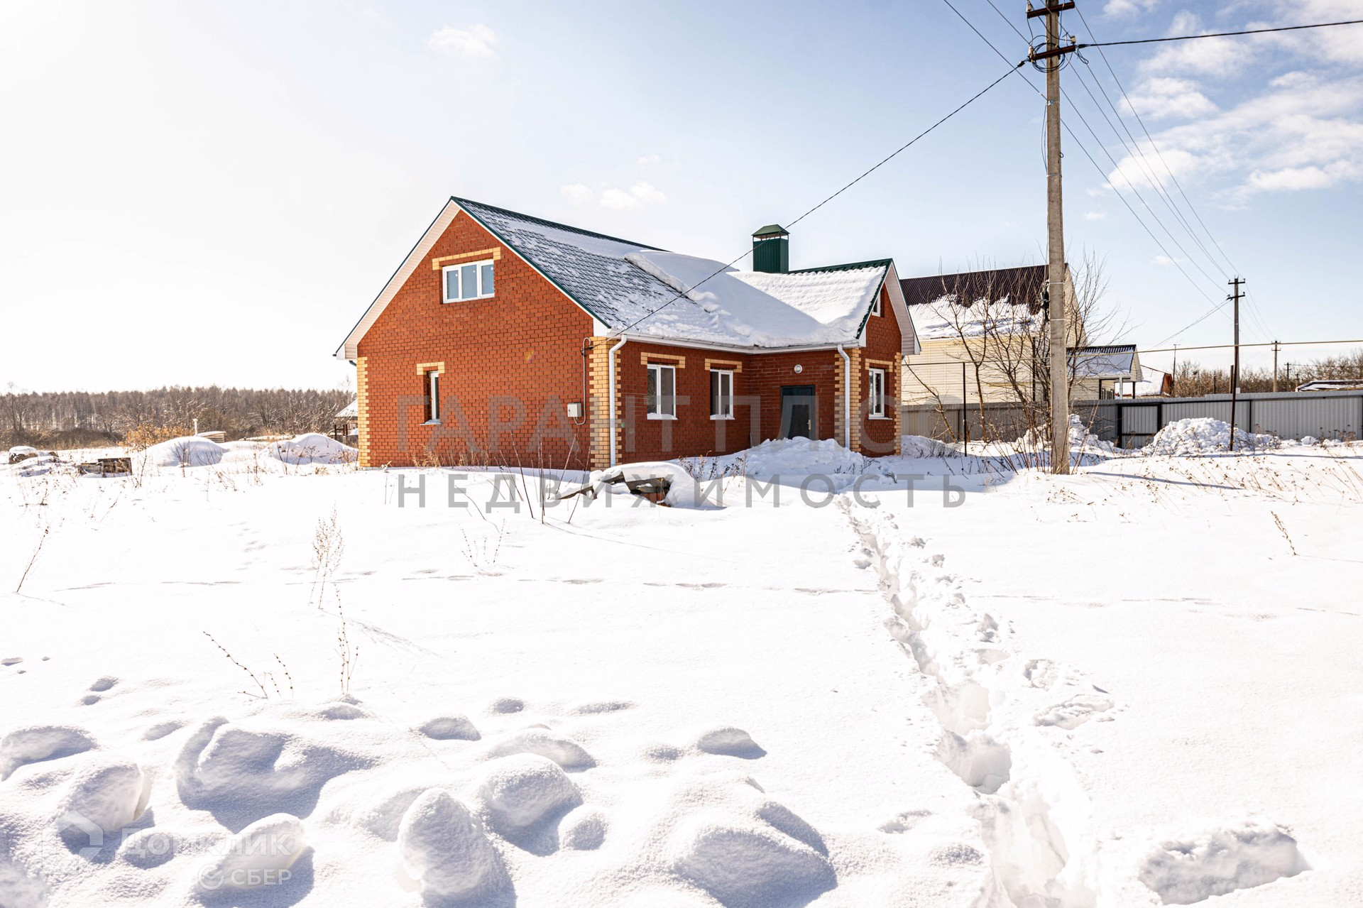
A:
POLYGON ((1069 319, 1065 312, 1065 207, 1060 187, 1060 65, 1070 46, 1060 46, 1060 14, 1074 8, 1067 3, 1047 3, 1026 18, 1045 16, 1045 49, 1028 52, 1032 63, 1045 61, 1045 228, 1050 262, 1045 273, 1047 316, 1051 320, 1051 472, 1070 472, 1070 382, 1069 319))

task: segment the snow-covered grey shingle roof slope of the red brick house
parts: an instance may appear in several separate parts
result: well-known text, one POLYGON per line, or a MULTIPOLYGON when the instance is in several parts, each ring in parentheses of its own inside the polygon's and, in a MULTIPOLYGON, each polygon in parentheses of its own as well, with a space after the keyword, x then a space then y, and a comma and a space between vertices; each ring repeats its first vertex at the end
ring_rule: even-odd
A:
POLYGON ((631 335, 754 348, 853 342, 890 267, 885 260, 784 274, 740 271, 468 199, 454 202, 609 330, 631 335))

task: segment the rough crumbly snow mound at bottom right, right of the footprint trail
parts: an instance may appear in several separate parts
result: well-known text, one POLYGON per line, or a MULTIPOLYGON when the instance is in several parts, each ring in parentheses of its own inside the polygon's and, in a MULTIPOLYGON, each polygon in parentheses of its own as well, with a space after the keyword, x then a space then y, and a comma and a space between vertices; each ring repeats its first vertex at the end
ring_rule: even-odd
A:
POLYGON ((1139 878, 1165 905, 1224 896, 1310 870, 1296 840, 1264 819, 1163 843, 1141 864, 1139 878))

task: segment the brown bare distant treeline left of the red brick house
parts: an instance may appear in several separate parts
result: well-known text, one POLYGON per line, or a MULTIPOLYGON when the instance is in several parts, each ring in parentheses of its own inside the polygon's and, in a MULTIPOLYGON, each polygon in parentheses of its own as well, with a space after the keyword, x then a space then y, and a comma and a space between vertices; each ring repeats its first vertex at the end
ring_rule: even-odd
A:
POLYGON ((94 447, 219 429, 254 435, 330 432, 354 394, 343 390, 161 387, 153 391, 46 391, 0 395, 0 449, 94 447))

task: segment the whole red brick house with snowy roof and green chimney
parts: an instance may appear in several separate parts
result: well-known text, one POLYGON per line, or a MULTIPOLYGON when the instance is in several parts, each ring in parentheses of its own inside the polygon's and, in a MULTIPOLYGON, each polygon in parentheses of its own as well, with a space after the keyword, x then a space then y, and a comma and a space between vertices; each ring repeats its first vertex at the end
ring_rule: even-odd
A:
POLYGON ((451 198, 335 356, 363 466, 615 462, 765 439, 900 447, 916 339, 894 262, 754 270, 451 198))

